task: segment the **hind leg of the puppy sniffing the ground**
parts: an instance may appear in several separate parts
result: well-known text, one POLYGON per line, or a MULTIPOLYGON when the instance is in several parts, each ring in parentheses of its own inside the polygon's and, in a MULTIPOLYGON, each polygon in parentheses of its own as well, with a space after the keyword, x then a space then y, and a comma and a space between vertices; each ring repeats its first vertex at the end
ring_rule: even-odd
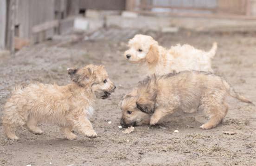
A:
POLYGON ((210 120, 200 126, 201 129, 212 129, 222 122, 228 112, 228 105, 226 103, 206 106, 205 111, 210 114, 210 120))

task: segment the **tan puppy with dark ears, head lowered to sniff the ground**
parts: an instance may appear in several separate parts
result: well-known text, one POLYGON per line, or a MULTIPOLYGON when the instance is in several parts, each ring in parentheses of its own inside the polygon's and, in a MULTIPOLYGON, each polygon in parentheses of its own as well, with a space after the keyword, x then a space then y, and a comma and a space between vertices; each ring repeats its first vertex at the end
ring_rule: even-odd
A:
POLYGON ((252 104, 238 95, 225 80, 208 72, 182 71, 153 75, 124 96, 120 123, 123 127, 148 123, 155 125, 162 117, 175 111, 192 113, 199 109, 210 117, 200 128, 212 129, 227 114, 227 94, 252 104))

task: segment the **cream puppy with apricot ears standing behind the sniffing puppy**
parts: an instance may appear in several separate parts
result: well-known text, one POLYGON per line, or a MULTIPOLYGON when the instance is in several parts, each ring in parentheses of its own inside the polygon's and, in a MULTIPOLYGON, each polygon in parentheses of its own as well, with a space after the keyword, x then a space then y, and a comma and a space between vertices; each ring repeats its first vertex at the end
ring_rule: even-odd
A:
POLYGON ((166 49, 158 45, 151 36, 135 35, 128 42, 129 49, 124 56, 131 63, 145 64, 149 74, 168 74, 173 70, 198 70, 213 72, 211 58, 217 50, 213 43, 209 52, 195 49, 192 46, 176 45, 166 49))

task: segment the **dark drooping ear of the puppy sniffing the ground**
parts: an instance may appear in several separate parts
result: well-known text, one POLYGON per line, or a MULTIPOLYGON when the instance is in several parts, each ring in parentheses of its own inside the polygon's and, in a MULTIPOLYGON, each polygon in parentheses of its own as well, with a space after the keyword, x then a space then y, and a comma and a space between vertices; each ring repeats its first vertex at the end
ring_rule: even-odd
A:
POLYGON ((147 114, 154 113, 154 101, 146 98, 138 98, 136 101, 136 107, 147 114))

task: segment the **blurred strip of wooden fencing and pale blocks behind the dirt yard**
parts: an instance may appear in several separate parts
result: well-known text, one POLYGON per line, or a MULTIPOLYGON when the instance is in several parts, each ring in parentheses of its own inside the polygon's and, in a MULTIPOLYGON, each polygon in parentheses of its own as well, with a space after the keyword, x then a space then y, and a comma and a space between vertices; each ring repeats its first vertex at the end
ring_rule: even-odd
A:
POLYGON ((256 0, 0 0, 0 49, 13 53, 74 29, 241 28, 255 18, 256 0))

